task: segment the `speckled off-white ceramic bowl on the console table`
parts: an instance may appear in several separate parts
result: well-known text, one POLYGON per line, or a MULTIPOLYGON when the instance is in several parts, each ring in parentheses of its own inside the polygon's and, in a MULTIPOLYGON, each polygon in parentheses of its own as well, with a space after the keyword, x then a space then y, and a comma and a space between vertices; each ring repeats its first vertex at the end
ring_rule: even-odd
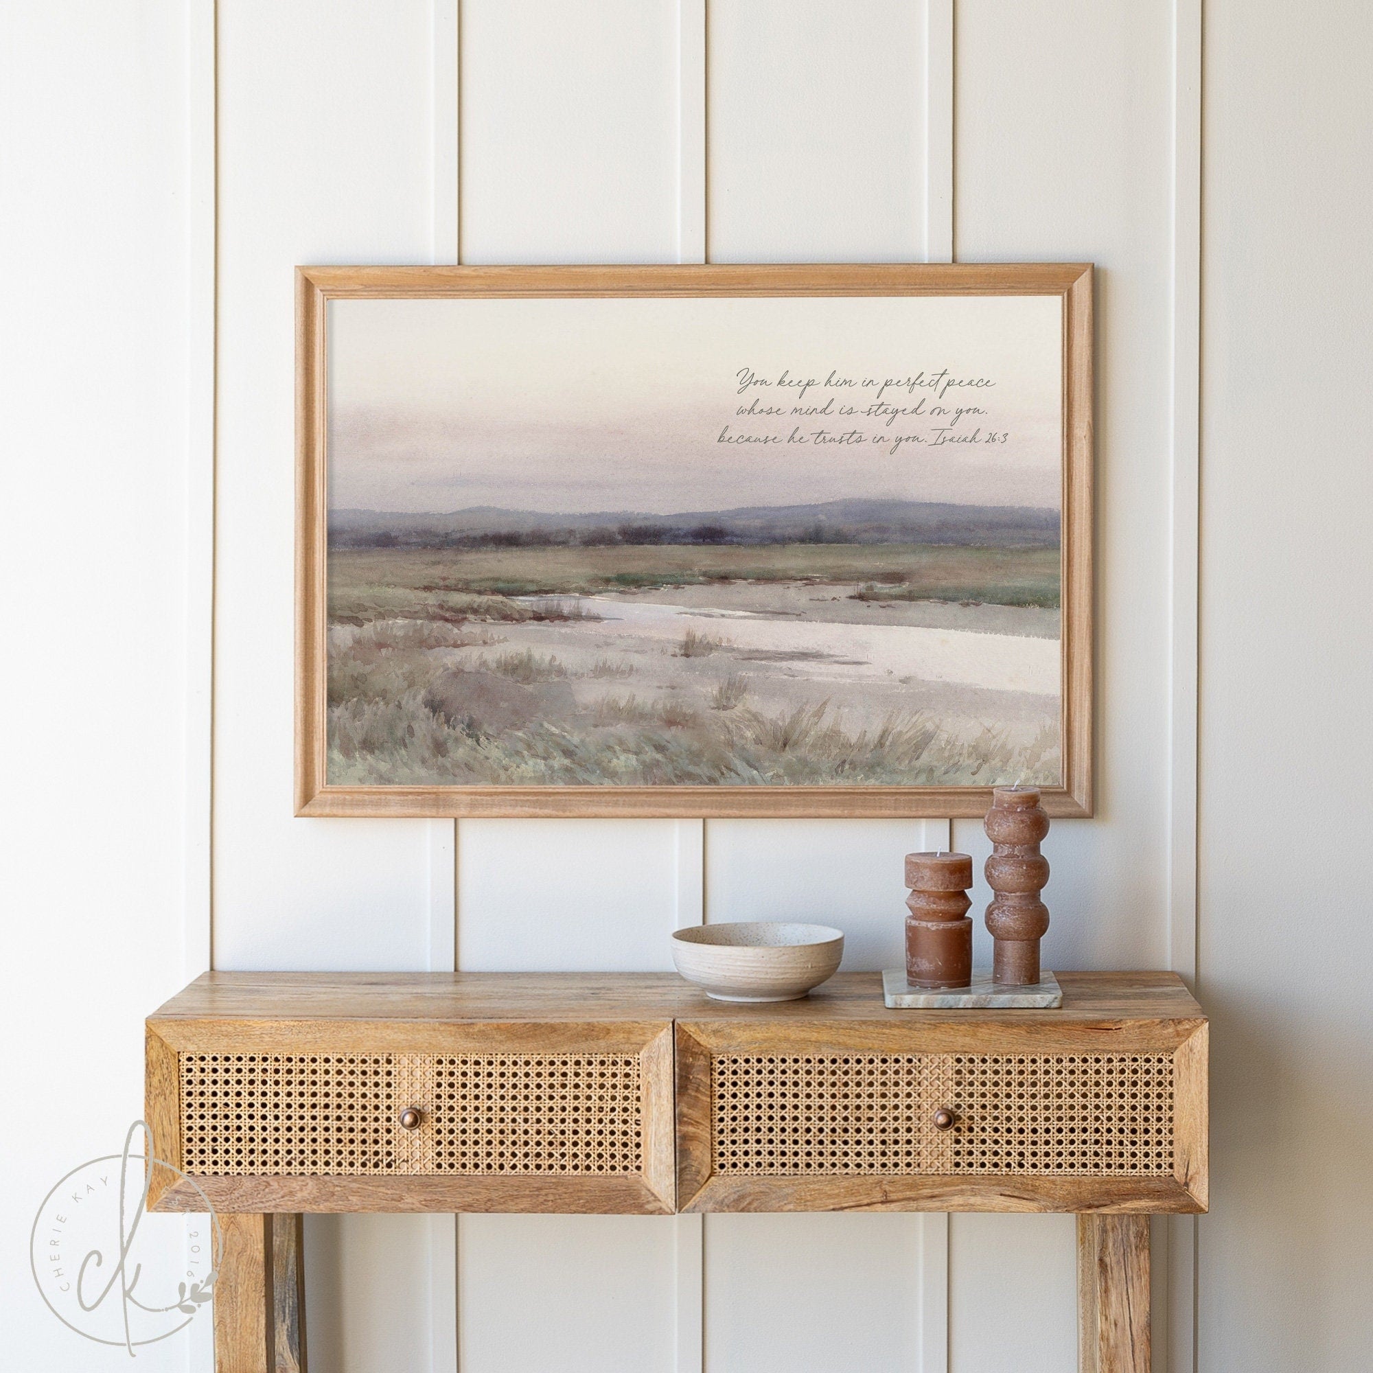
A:
POLYGON ((717 1001, 795 1001, 839 971, 844 935, 831 925, 740 920, 673 931, 673 962, 717 1001))

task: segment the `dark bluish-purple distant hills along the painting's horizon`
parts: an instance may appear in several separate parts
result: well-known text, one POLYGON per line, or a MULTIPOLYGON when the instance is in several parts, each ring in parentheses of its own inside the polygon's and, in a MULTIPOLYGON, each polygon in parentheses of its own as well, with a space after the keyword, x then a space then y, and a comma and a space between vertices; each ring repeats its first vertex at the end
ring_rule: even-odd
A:
POLYGON ((1059 512, 1024 505, 842 500, 814 505, 741 505, 724 511, 500 509, 448 512, 338 509, 334 548, 482 548, 546 544, 962 544, 1054 548, 1059 512))

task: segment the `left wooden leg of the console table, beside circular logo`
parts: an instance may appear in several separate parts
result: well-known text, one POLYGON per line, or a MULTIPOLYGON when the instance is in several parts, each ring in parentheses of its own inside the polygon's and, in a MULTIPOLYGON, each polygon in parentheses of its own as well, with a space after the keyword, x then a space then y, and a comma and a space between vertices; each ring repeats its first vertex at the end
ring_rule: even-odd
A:
POLYGON ((299 1215, 221 1215, 214 1373, 306 1373, 299 1215))

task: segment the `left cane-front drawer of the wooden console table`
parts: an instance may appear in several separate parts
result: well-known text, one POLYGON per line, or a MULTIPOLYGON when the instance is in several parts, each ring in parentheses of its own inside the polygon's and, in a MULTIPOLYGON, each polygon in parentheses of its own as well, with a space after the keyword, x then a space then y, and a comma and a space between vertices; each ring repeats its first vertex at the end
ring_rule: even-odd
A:
POLYGON ((288 1032, 272 1046, 239 1038, 150 1039, 150 1059, 166 1060, 159 1157, 216 1205, 270 1210, 264 1197, 317 1199, 353 1179, 345 1190, 367 1196, 413 1184, 432 1199, 446 1188, 464 1210, 503 1210, 503 1197, 671 1210, 666 1024, 616 1027, 610 1043, 596 1042, 604 1032, 577 1042, 564 1026, 467 1026, 450 1052, 367 1052, 354 1046, 368 1038, 357 1027, 312 1049, 288 1032), (174 1160, 162 1152, 169 1137, 174 1160))

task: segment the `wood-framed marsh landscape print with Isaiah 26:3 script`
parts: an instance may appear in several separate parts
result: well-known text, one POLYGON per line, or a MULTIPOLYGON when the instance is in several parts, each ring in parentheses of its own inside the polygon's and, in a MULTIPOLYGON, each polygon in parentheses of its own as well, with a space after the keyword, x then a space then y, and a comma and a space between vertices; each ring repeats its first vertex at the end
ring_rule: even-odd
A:
POLYGON ((302 268, 297 811, 1092 811, 1092 269, 302 268))

